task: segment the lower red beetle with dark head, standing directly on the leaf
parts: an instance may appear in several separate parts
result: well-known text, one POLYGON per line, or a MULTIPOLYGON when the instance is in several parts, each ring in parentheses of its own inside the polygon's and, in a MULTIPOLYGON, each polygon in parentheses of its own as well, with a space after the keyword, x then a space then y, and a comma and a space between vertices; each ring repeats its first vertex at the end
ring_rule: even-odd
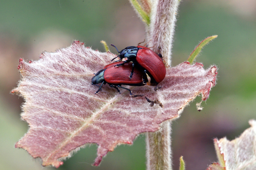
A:
MULTIPOLYGON (((123 62, 117 62, 117 64, 121 64, 123 62)), ((143 86, 143 72, 138 68, 134 68, 133 79, 130 80, 130 70, 132 69, 132 63, 124 63, 123 67, 115 67, 116 63, 108 64, 104 67, 104 69, 98 71, 92 77, 92 85, 96 85, 101 83, 99 86, 99 90, 96 93, 99 93, 103 84, 108 83, 110 87, 116 88, 117 92, 120 93, 118 87, 124 88, 125 90, 130 92, 132 95, 132 91, 129 88, 122 87, 121 85, 129 85, 129 86, 143 86)), ((97 85, 98 86, 98 85, 97 85)))

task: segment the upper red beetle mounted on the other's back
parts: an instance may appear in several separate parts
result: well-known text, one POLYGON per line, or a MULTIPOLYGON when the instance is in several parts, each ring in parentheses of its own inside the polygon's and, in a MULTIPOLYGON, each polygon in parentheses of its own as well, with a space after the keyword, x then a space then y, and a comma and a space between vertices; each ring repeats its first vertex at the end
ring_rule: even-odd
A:
MULTIPOLYGON (((111 44, 111 46, 114 46, 117 50, 117 47, 115 45, 111 44)), ((119 61, 122 61, 123 58, 127 58, 127 60, 123 61, 123 63, 116 64, 117 67, 123 66, 124 63, 129 63, 130 61, 133 62, 132 71, 129 76, 130 79, 133 76, 134 67, 138 67, 139 69, 141 69, 141 67, 144 68, 145 74, 147 73, 151 78, 150 85, 157 85, 164 79, 166 74, 165 64, 163 60, 149 48, 140 45, 137 47, 128 46, 120 52, 117 50, 117 52, 120 53, 118 55, 120 58, 119 61)), ((116 56, 114 59, 116 59, 118 56, 116 56)), ((113 61, 114 59, 112 59, 111 61, 113 61)), ((145 80, 147 79, 145 78, 145 80)))

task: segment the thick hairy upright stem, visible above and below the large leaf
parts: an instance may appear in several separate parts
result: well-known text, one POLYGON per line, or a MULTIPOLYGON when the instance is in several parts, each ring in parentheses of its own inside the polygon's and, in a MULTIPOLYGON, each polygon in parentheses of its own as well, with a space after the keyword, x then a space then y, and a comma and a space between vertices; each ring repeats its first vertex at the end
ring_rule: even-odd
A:
MULTIPOLYGON (((176 14, 179 0, 152 1, 150 25, 147 33, 148 46, 161 53, 166 64, 171 65, 171 48, 173 43, 176 14)), ((171 122, 166 121, 162 128, 148 133, 147 170, 170 170, 171 163, 171 122)))

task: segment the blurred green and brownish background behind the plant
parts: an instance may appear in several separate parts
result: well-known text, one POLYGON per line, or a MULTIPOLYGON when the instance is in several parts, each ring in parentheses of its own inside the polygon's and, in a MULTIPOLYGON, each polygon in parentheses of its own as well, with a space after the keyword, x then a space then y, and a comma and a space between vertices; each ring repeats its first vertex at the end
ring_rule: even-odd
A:
MULTIPOLYGON (((232 140, 249 127, 249 119, 256 119, 256 1, 184 0, 175 30, 172 66, 187 60, 199 41, 218 35, 196 60, 205 68, 218 66, 217 85, 201 112, 196 110, 197 98, 172 123, 173 169, 178 169, 180 156, 187 169, 206 169, 217 161, 214 137, 232 140)), ((144 25, 127 0, 2 1, 0 169, 42 169, 39 159, 14 148, 28 129, 19 115, 22 98, 10 94, 20 78, 19 58, 38 60, 41 52, 54 52, 74 39, 103 51, 101 40, 121 49, 144 38, 144 25)), ((91 166, 96 151, 95 144, 81 149, 59 169, 146 169, 143 134, 132 146, 109 152, 99 167, 91 166)))

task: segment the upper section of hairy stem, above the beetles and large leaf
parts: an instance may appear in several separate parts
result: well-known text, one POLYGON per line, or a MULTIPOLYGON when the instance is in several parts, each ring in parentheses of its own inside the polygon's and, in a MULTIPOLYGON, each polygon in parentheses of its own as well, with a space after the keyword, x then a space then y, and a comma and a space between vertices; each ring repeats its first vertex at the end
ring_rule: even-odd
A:
POLYGON ((178 0, 153 1, 147 34, 148 46, 152 47, 151 50, 161 53, 169 65, 178 5, 178 0))

